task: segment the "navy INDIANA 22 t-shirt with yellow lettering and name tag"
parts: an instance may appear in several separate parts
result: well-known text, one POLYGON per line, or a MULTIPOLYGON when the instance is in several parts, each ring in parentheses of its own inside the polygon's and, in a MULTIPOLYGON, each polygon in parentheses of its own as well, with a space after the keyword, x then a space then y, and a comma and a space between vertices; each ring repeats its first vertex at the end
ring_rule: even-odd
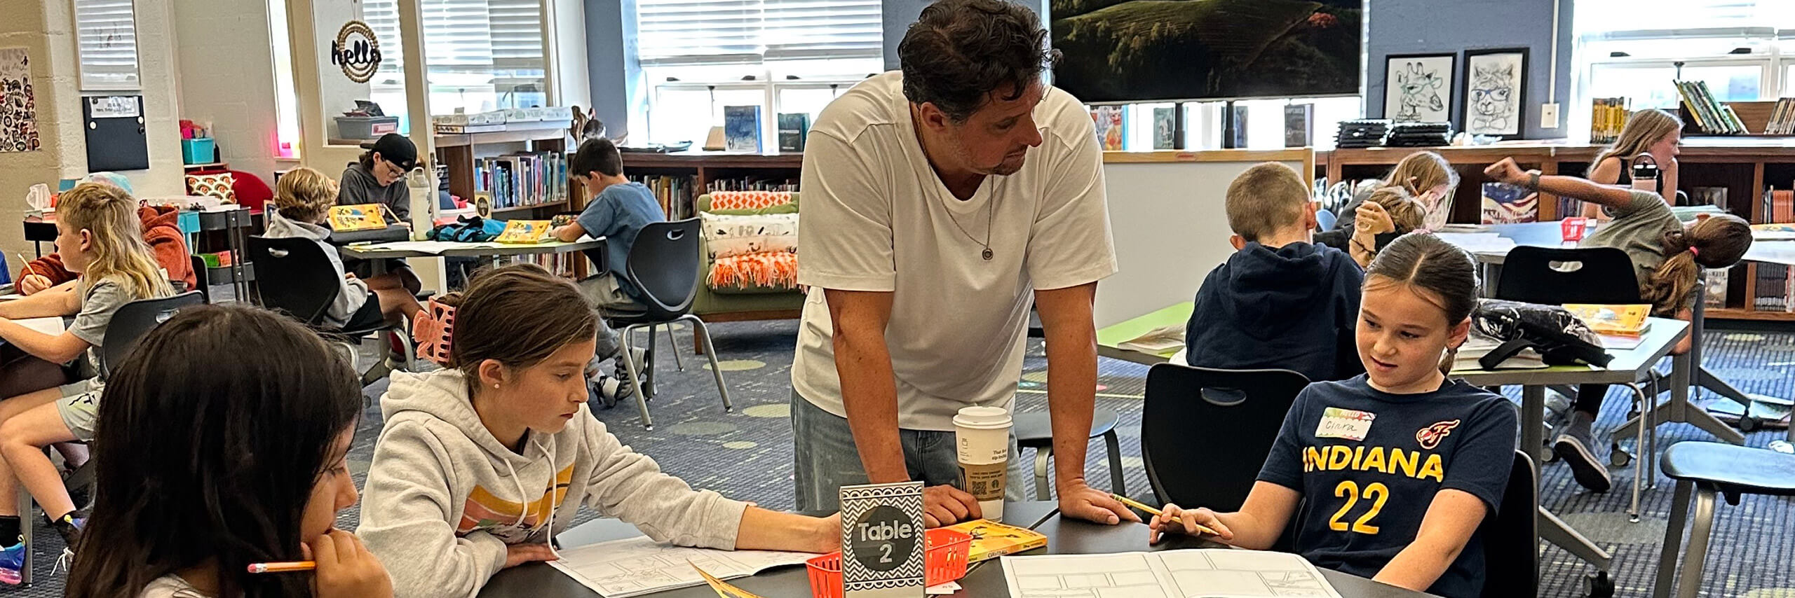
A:
MULTIPOLYGON (((1319 568, 1375 577, 1414 541, 1443 489, 1501 507, 1515 460, 1515 405, 1459 380, 1388 394, 1357 376, 1303 389, 1258 478, 1303 492, 1296 551, 1319 568)), ((1483 593, 1483 535, 1427 591, 1483 593)))

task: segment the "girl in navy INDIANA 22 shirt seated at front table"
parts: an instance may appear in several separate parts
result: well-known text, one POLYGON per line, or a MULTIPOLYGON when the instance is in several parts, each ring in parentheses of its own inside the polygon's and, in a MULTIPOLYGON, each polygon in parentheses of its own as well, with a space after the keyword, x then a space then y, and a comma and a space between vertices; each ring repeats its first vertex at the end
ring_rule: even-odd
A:
POLYGON ((1203 525, 1217 541, 1265 550, 1294 525, 1296 551, 1316 566, 1479 596, 1477 526, 1501 507, 1517 423, 1508 399, 1445 376, 1475 304, 1470 254, 1425 233, 1391 242, 1364 276, 1366 374, 1296 396, 1239 512, 1167 505, 1151 541, 1203 525))

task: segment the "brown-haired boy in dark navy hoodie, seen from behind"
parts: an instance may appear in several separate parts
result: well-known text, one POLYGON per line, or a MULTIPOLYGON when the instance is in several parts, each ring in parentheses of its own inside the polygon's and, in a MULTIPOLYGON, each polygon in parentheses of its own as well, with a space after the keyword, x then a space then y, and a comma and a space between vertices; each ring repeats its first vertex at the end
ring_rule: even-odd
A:
POLYGON ((1310 381, 1364 372, 1353 346, 1364 272, 1312 242, 1316 208, 1303 177, 1262 163, 1228 184, 1235 254, 1197 288, 1185 331, 1188 363, 1291 369, 1310 381))

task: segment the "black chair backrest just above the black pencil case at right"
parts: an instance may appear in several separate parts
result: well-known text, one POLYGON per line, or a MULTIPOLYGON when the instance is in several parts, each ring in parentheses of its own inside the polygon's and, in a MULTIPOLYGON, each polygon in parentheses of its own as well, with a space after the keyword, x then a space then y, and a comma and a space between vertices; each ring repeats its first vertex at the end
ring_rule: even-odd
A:
POLYGON ((1520 245, 1502 260, 1495 299, 1562 303, 1639 303, 1633 260, 1614 247, 1551 249, 1520 245))

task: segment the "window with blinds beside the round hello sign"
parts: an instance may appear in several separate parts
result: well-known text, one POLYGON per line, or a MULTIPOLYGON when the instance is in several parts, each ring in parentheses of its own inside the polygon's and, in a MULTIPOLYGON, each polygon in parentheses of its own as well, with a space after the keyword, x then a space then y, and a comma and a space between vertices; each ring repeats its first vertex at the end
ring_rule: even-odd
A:
MULTIPOLYGON (((420 0, 418 9, 431 113, 549 104, 542 0, 420 0)), ((409 129, 398 2, 366 0, 363 18, 381 39, 381 70, 370 81, 373 100, 409 129)))

